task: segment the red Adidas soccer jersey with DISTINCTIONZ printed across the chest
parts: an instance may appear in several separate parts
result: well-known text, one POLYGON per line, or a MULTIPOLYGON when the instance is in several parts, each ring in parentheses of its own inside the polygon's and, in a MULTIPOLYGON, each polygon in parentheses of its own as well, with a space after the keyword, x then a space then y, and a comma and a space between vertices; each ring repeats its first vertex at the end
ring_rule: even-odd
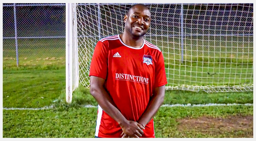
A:
MULTIPOLYGON (((140 48, 130 47, 119 35, 102 38, 95 47, 89 76, 106 80, 106 90, 127 120, 138 121, 146 110, 153 90, 167 84, 161 50, 143 39, 140 48)), ((121 137, 122 129, 98 105, 98 137, 121 137)), ((155 137, 153 119, 142 137, 155 137)))

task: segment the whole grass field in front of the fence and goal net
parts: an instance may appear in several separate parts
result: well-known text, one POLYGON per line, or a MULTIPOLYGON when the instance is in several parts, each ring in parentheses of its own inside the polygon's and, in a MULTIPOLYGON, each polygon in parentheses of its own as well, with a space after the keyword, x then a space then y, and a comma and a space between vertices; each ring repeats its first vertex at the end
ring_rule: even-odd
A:
MULTIPOLYGON (((28 67, 28 66, 27 66, 28 67)), ((97 103, 80 86, 65 102, 65 67, 5 68, 3 137, 94 137, 97 103)), ((164 104, 237 103, 234 106, 161 107, 154 117, 156 137, 253 137, 253 92, 166 91, 164 104)))

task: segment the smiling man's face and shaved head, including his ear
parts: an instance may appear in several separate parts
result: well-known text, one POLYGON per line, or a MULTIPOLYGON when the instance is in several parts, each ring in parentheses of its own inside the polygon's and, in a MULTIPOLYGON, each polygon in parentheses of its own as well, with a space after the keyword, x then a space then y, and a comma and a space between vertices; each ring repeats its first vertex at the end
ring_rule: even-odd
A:
POLYGON ((140 5, 130 9, 128 15, 124 16, 125 29, 134 36, 144 36, 150 27, 150 11, 140 5))

